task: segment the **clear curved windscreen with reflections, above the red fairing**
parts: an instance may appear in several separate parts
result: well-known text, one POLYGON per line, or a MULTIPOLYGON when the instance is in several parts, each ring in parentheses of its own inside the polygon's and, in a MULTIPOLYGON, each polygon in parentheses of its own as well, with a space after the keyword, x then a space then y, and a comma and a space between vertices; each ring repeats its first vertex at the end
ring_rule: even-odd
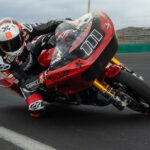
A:
POLYGON ((56 69, 66 65, 74 59, 84 58, 84 51, 78 49, 79 45, 88 36, 92 26, 92 15, 65 21, 56 29, 56 48, 52 57, 51 67, 56 69))

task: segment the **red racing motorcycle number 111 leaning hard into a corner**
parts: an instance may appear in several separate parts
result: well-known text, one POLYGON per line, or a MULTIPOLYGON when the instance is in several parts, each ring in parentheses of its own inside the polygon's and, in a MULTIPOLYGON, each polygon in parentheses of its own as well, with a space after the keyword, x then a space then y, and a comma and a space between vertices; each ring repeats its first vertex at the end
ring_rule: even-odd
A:
MULTIPOLYGON (((150 112, 150 87, 132 70, 114 58, 118 43, 111 19, 96 11, 76 20, 67 20, 56 31, 56 47, 43 50, 38 62, 50 69, 47 102, 74 105, 113 104, 119 110, 150 112)), ((7 67, 0 60, 0 68, 7 67)), ((22 96, 16 78, 8 71, 0 74, 1 86, 22 96)))

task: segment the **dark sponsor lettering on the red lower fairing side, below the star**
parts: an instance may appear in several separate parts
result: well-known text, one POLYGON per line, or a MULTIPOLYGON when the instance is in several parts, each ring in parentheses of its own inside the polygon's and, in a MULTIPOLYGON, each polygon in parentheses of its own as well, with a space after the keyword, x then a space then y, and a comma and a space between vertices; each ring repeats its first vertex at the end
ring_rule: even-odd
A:
POLYGON ((60 80, 66 76, 69 75, 70 70, 65 70, 63 72, 59 72, 57 74, 51 75, 50 77, 48 77, 48 79, 55 81, 55 80, 60 80))

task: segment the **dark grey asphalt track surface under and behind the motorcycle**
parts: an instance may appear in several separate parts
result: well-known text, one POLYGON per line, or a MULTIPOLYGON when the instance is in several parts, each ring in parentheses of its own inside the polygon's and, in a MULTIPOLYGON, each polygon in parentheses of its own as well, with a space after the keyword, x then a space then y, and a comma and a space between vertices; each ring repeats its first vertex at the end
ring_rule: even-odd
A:
MULTIPOLYGON (((117 56, 150 85, 150 54, 117 56)), ((52 104, 46 116, 30 118, 25 101, 0 90, 0 126, 58 150, 149 150, 150 117, 113 106, 52 104)), ((0 150, 21 150, 0 138, 0 150)))

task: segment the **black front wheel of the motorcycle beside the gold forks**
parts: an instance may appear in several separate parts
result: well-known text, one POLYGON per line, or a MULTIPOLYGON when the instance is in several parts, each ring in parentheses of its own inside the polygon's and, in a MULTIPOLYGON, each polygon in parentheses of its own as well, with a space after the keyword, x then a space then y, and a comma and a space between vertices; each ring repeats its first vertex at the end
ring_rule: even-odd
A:
POLYGON ((128 72, 120 71, 115 78, 108 79, 108 82, 121 99, 129 99, 127 106, 130 109, 150 113, 150 87, 144 81, 128 72))

